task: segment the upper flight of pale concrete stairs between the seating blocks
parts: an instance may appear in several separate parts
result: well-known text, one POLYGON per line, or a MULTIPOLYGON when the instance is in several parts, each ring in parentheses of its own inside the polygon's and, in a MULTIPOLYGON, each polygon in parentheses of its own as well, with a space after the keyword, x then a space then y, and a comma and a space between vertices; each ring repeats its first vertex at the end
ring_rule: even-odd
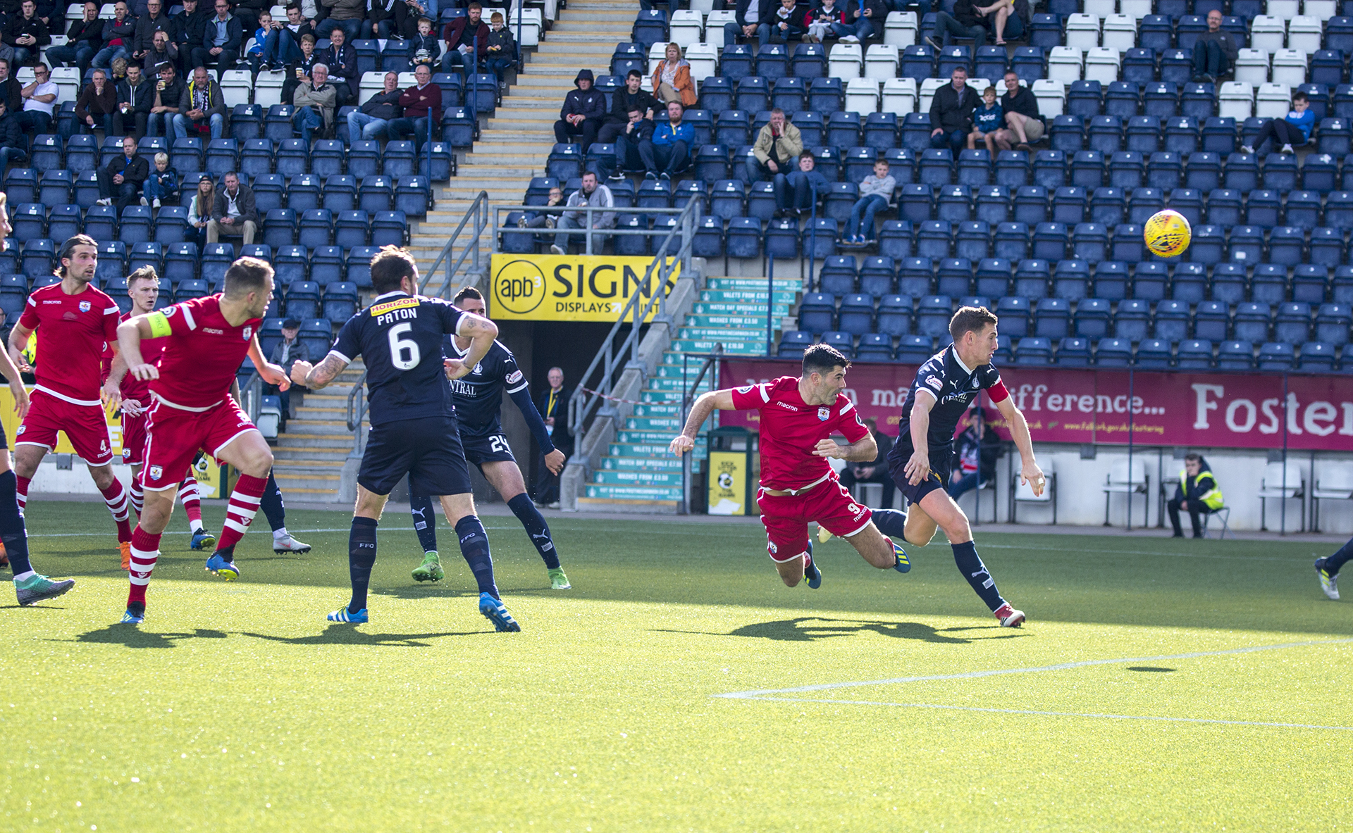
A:
MULTIPOLYGON (((457 174, 437 195, 436 210, 413 227, 410 243, 423 273, 480 191, 488 192, 491 203, 521 204, 530 177, 545 170, 559 108, 574 88, 578 70, 589 68, 598 77, 607 74, 616 43, 629 41, 633 22, 632 0, 572 0, 559 12, 553 27, 529 55, 525 72, 517 76, 471 151, 460 160, 457 174)), ((490 243, 486 230, 480 252, 487 254, 490 243)), ((429 291, 440 285, 441 276, 434 281, 429 291)))

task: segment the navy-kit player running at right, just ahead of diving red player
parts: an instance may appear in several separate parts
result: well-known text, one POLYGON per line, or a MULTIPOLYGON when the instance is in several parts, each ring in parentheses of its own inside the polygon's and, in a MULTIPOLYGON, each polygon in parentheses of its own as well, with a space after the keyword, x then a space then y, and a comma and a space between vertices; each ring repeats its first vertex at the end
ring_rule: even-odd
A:
POLYGON ((1019 627, 1024 613, 1015 610, 996 590, 986 571, 967 517, 958 508, 944 485, 953 462, 954 430, 978 391, 986 391, 1005 416, 1020 453, 1020 481, 1035 495, 1043 494, 1043 472, 1034 461, 1028 423, 1015 407, 1001 375, 992 365, 996 353, 996 316, 980 307, 962 307, 948 322, 954 343, 920 366, 902 403, 897 444, 888 454, 888 471, 907 499, 909 511, 878 510, 874 523, 885 534, 901 536, 925 546, 939 526, 954 548, 954 563, 977 595, 1005 627, 1019 627))

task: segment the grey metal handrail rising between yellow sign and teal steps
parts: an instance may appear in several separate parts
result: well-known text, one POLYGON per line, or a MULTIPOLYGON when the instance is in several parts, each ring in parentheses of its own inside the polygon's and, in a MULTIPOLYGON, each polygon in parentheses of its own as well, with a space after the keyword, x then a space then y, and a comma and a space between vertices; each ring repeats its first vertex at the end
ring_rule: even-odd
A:
MULTIPOLYGON (((610 415, 616 412, 616 407, 607 399, 614 389, 616 381, 620 375, 628 368, 639 369, 640 375, 644 373, 643 362, 639 361, 639 334, 648 315, 653 312, 653 307, 658 307, 656 315, 653 315, 653 323, 671 322, 671 316, 667 314, 667 291, 668 283, 671 281, 672 272, 681 266, 685 275, 690 270, 690 252, 691 243, 695 239, 695 229, 700 226, 700 206, 701 200, 697 196, 690 197, 686 207, 678 214, 678 222, 667 231, 663 237, 663 242, 658 246, 658 252, 653 254, 653 260, 648 264, 648 269, 644 270, 644 280, 639 281, 635 287, 635 293, 629 296, 625 302, 624 308, 620 311, 620 318, 616 319, 614 326, 612 326, 610 333, 602 341, 601 349, 597 350, 597 356, 587 365, 587 371, 578 380, 578 387, 574 389, 574 395, 568 399, 568 427, 574 437, 580 437, 583 426, 591 416, 593 411, 601 406, 598 415, 610 415), (681 231, 681 245, 676 250, 668 256, 668 249, 674 246, 676 233, 681 231), (658 270, 658 287, 653 288, 651 281, 653 277, 653 270, 658 270), (644 293, 649 292, 647 303, 644 302, 644 293), (625 335, 625 339, 616 346, 616 337, 620 334, 621 325, 625 323, 625 318, 630 319, 630 330, 625 335), (629 353, 626 361, 621 361, 625 353, 629 353), (602 368, 601 379, 593 383, 595 387, 591 388, 595 392, 589 392, 589 381, 593 373, 597 372, 598 366, 602 368), (602 402, 606 404, 602 406, 602 402)), ((674 210, 668 210, 671 212, 674 210)), ((612 231, 612 230, 607 230, 612 231)))

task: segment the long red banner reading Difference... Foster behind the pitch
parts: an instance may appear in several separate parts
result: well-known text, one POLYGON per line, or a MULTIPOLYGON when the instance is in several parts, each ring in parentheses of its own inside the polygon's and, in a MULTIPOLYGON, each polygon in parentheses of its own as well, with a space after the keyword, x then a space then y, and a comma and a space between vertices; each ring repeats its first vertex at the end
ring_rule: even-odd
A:
MULTIPOLYGON (((720 387, 797 376, 797 361, 725 360, 720 387)), ((1036 442, 1353 452, 1353 376, 1162 373, 1001 366, 1036 442), (1285 385, 1285 388, 1284 388, 1285 385)), ((916 365, 856 364, 846 395, 897 435, 916 365)), ((986 400, 989 402, 989 400, 986 400)), ((720 425, 755 429, 756 414, 725 411, 720 425)))

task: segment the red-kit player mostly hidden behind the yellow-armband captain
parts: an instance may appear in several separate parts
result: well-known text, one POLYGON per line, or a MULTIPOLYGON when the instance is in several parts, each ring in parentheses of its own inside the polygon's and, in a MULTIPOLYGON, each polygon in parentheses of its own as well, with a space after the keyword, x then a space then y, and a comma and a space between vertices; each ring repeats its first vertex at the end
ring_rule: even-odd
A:
MULTIPOLYGON (((137 315, 145 315, 156 308, 160 299, 160 276, 154 266, 142 266, 127 276, 127 296, 131 298, 131 311, 122 316, 129 320, 137 315)), ((162 338, 152 338, 141 342, 141 357, 146 364, 160 361, 164 350, 162 338)), ((150 383, 142 381, 127 373, 127 362, 120 357, 114 357, 111 350, 107 354, 111 364, 108 380, 104 381, 104 399, 120 402, 122 407, 122 461, 131 467, 131 508, 141 515, 145 494, 141 488, 141 471, 146 452, 146 411, 150 410, 150 383)), ((202 525, 202 500, 198 496, 198 480, 188 475, 179 485, 179 499, 188 514, 188 526, 192 530, 192 549, 202 549, 216 542, 216 537, 208 533, 202 525)), ((122 568, 130 569, 131 542, 122 550, 122 568)))

